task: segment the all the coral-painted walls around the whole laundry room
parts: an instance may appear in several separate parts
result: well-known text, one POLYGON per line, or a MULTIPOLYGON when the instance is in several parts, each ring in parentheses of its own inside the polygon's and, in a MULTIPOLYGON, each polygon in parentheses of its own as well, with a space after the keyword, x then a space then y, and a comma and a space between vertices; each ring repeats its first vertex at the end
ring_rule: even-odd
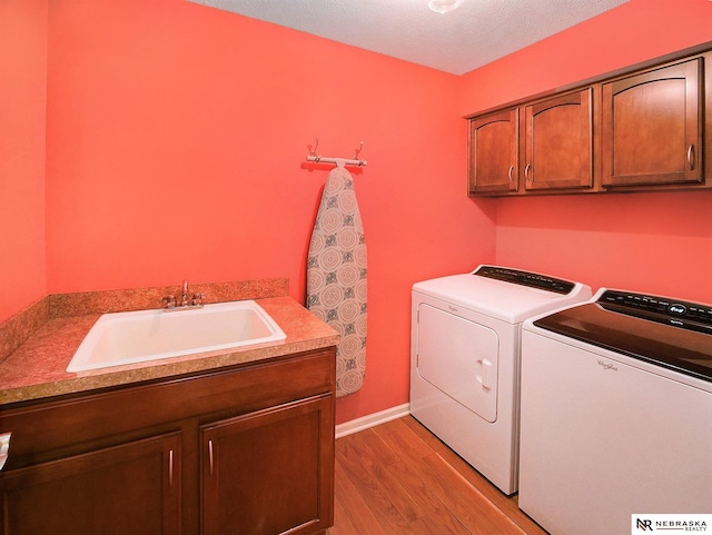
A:
POLYGON ((315 137, 369 161, 368 371, 338 422, 407 402, 416 280, 496 260, 712 303, 712 192, 468 199, 462 119, 710 40, 712 2, 630 0, 454 77, 185 0, 6 0, 0 320, 184 278, 288 277, 303 301, 315 137))

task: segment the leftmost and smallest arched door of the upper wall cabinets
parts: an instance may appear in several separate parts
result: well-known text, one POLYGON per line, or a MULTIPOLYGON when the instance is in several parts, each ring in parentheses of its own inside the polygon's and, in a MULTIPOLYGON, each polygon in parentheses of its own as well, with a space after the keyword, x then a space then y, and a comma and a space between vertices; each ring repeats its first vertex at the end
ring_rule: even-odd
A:
POLYGON ((469 122, 469 192, 517 190, 518 108, 469 122))

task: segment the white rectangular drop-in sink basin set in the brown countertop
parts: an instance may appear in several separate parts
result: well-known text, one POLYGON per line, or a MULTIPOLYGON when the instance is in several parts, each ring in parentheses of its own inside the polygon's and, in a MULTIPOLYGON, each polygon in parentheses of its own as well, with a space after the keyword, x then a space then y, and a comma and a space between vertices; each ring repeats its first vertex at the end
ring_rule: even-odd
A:
POLYGON ((172 311, 105 314, 89 330, 67 371, 229 349, 286 337, 275 320, 253 300, 172 311))

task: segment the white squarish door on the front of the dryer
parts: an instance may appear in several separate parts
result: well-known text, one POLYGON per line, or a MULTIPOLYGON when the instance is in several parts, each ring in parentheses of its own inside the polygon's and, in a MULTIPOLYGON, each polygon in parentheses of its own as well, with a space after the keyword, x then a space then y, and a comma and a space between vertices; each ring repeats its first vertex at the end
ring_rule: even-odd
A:
POLYGON ((492 423, 497 419, 498 355, 493 329, 426 304, 418 307, 418 375, 492 423))

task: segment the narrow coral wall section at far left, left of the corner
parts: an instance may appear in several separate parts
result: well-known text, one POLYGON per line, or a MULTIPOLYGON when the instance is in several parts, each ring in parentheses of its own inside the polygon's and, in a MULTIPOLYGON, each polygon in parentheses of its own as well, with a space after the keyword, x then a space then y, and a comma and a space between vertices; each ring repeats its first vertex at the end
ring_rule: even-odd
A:
POLYGON ((47 0, 0 2, 0 321, 44 297, 47 0))

